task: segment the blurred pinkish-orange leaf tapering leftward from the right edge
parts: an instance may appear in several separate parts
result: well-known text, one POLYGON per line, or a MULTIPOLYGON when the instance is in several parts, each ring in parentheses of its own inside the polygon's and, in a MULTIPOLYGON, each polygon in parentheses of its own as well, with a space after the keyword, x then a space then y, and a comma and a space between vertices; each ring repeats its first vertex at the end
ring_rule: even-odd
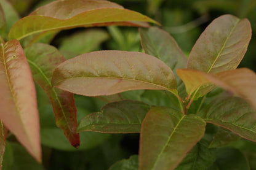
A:
POLYGON ((225 90, 238 94, 256 109, 256 74, 247 68, 219 72, 216 75, 204 74, 211 82, 225 90))

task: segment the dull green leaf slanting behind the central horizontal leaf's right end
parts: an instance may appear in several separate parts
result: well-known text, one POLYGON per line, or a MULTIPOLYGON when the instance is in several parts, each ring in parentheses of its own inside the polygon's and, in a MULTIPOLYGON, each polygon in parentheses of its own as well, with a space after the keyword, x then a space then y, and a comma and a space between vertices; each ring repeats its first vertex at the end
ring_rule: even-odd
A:
MULTIPOLYGON (((176 69, 186 68, 186 56, 169 33, 156 27, 150 27, 140 29, 140 37, 145 53, 164 61, 174 71, 174 74, 176 74, 176 69)), ((185 98, 185 87, 179 78, 177 86, 179 95, 185 98)))

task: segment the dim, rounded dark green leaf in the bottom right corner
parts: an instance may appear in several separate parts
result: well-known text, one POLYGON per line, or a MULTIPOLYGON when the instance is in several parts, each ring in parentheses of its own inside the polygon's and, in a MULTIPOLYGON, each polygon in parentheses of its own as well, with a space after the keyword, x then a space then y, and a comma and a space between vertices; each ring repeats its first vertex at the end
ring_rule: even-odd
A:
POLYGON ((249 170, 250 166, 246 157, 238 149, 220 148, 217 150, 216 164, 218 169, 249 170))

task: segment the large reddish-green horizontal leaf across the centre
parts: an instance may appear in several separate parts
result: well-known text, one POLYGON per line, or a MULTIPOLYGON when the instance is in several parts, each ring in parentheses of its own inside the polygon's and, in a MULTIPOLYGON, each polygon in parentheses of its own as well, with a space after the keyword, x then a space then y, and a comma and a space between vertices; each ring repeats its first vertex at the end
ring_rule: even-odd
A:
POLYGON ((140 89, 176 91, 174 73, 162 61, 122 51, 91 52, 67 60, 55 69, 52 85, 85 96, 140 89))

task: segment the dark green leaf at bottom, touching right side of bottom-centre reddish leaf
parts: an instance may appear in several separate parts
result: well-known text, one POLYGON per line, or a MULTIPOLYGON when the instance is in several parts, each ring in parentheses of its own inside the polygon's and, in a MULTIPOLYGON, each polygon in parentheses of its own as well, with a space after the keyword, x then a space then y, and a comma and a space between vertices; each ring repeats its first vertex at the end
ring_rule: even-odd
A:
POLYGON ((215 149, 208 149, 208 142, 202 139, 186 155, 175 170, 207 169, 216 159, 215 149))

